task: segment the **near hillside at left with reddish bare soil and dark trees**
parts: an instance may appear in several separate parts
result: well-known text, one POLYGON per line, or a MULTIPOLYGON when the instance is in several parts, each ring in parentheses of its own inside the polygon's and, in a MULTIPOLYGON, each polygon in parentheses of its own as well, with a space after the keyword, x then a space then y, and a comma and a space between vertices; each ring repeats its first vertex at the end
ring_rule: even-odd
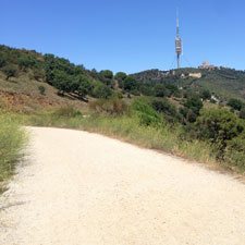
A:
POLYGON ((113 83, 110 71, 98 73, 53 54, 0 46, 0 105, 11 110, 85 109, 93 97, 110 96, 113 83))

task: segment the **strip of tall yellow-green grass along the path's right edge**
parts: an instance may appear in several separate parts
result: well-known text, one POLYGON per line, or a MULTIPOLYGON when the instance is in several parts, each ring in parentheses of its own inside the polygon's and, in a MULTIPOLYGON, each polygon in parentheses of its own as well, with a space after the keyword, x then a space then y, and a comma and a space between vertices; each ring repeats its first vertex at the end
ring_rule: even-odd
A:
POLYGON ((162 150, 185 159, 199 162, 216 163, 213 149, 204 142, 182 140, 182 128, 171 130, 168 125, 161 128, 140 125, 134 115, 105 115, 94 113, 87 117, 82 114, 60 115, 59 113, 40 113, 36 115, 22 115, 26 125, 53 126, 76 128, 96 132, 107 136, 133 143, 142 147, 162 150))

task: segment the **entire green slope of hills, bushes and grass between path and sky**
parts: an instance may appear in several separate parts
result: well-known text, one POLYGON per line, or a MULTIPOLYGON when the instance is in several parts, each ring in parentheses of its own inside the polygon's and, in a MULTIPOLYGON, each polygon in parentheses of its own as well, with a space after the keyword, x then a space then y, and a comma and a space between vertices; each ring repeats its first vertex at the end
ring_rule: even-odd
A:
POLYGON ((0 113, 19 112, 28 125, 108 133, 238 172, 244 91, 245 73, 231 69, 113 74, 0 46, 0 113))

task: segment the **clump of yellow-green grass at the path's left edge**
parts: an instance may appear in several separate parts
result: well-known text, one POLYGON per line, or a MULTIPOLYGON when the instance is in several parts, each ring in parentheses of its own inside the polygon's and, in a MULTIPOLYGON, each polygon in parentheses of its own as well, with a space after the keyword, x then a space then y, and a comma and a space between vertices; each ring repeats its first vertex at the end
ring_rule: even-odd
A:
POLYGON ((0 193, 5 189, 7 180, 14 173, 26 134, 20 123, 9 114, 0 114, 0 193))

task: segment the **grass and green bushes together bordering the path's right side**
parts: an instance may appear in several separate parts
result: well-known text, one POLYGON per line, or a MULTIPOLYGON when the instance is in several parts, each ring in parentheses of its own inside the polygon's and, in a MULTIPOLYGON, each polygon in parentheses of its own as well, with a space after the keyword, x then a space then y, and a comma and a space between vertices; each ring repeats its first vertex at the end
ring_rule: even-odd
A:
POLYGON ((245 172, 244 120, 224 109, 201 109, 196 121, 186 124, 181 113, 171 115, 169 111, 176 112, 173 105, 164 107, 168 120, 163 110, 160 113, 156 110, 155 99, 147 97, 139 97, 130 106, 114 97, 100 99, 91 103, 88 114, 63 108, 22 117, 29 125, 98 132, 233 172, 245 172))

